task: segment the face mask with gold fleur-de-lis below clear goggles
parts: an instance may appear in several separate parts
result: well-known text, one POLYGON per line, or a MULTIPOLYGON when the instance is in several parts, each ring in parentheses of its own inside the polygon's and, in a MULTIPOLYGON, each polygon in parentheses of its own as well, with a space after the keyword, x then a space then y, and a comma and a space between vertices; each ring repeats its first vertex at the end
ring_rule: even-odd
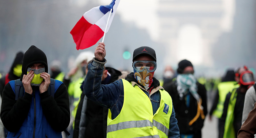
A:
POLYGON ((143 85, 146 90, 148 90, 148 88, 153 82, 153 76, 155 71, 149 72, 148 71, 149 69, 146 69, 148 67, 145 67, 145 66, 139 67, 139 68, 140 69, 138 69, 138 67, 133 67, 134 78, 138 81, 138 83, 143 85), (137 71, 137 70, 142 70, 142 71, 137 71))

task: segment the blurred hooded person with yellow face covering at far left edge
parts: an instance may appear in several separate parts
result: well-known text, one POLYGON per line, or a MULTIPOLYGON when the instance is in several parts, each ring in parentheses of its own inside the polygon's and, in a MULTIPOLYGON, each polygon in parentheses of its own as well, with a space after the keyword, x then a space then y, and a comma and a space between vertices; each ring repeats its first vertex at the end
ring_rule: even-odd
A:
POLYGON ((21 67, 22 67, 22 59, 23 59, 23 52, 18 52, 16 54, 16 57, 13 61, 12 67, 10 68, 9 73, 7 73, 5 76, 3 76, 0 79, 0 95, 2 97, 4 86, 11 80, 17 80, 20 78, 20 75, 22 73, 21 67))

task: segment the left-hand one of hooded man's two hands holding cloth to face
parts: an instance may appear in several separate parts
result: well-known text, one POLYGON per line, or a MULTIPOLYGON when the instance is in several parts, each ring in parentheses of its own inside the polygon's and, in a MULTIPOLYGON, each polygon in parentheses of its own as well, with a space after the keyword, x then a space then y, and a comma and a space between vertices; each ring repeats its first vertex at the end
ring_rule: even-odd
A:
POLYGON ((24 87, 24 90, 26 93, 29 93, 29 94, 32 94, 33 90, 32 90, 32 87, 30 85, 32 79, 34 78, 34 71, 30 70, 28 72, 27 75, 23 75, 23 78, 22 78, 22 84, 23 84, 23 87, 24 87))

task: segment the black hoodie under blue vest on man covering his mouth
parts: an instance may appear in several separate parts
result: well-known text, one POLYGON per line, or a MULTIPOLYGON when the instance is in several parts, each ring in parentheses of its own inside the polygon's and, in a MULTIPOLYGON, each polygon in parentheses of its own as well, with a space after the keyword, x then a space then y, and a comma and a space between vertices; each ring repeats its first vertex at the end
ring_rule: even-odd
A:
MULTIPOLYGON (((32 45, 24 54, 21 76, 27 74, 27 68, 34 63, 44 64, 45 72, 48 72, 45 53, 32 45)), ((20 77, 20 80, 22 80, 22 77, 20 77)), ((38 86, 32 86, 32 89, 36 90, 39 88, 38 86)), ((69 98, 66 86, 61 84, 54 96, 49 95, 47 92, 40 93, 39 96, 41 108, 36 108, 36 110, 42 110, 46 120, 54 131, 64 131, 70 122, 69 98)), ((33 104, 32 99, 33 94, 31 95, 25 92, 23 97, 15 100, 15 93, 10 83, 5 85, 0 116, 4 127, 8 131, 17 132, 25 119, 30 117, 28 116, 28 112, 31 109, 31 104, 33 104)))

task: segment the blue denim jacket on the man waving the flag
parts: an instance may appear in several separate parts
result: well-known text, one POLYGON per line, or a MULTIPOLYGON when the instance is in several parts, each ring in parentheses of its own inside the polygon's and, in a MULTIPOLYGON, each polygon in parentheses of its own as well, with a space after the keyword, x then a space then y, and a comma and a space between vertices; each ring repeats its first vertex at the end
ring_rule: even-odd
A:
MULTIPOLYGON (((121 79, 116 80, 115 82, 110 83, 108 85, 101 85, 101 76, 104 69, 103 66, 105 63, 106 59, 104 59, 104 62, 100 62, 93 58, 93 61, 88 65, 88 73, 84 80, 83 93, 92 101, 109 108, 112 114, 111 118, 114 119, 119 115, 123 106, 124 88, 121 79)), ((129 74, 127 76, 129 76, 129 74)), ((149 94, 146 90, 143 91, 150 98, 153 107, 153 114, 155 114, 160 105, 160 92, 157 91, 153 94, 149 94)), ((168 138, 178 137, 179 128, 177 125, 177 119, 175 118, 175 112, 173 108, 172 115, 170 116, 168 138)))

